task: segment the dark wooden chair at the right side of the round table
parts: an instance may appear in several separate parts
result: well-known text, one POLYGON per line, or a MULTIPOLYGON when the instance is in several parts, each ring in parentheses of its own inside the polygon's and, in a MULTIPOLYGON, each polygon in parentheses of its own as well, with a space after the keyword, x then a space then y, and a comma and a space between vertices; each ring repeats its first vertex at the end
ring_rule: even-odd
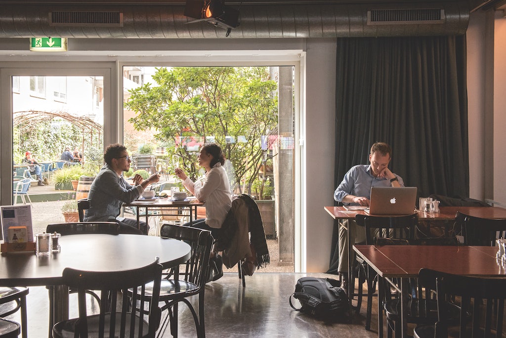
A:
MULTIPOLYGON (((171 334, 174 337, 178 336, 178 303, 183 302, 190 309, 193 316, 197 336, 204 337, 204 290, 209 275, 209 254, 213 237, 210 231, 207 230, 172 224, 163 225, 160 235, 161 237, 179 239, 188 243, 191 246, 191 257, 184 265, 176 267, 173 275, 168 274, 161 280, 159 301, 165 303, 161 310, 167 312, 161 321, 157 336, 163 335, 167 320, 170 321, 171 334), (184 270, 181 268, 184 268, 184 270), (198 295, 198 316, 188 300, 193 295, 198 295)), ((155 287, 154 283, 146 285, 146 295, 150 295, 151 292, 154 293, 156 291, 155 287)))

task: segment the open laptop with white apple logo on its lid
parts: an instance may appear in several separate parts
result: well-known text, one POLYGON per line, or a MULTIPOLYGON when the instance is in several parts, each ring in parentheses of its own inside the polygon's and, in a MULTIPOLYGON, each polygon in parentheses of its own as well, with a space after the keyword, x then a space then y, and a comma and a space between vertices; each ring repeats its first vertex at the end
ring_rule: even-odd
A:
POLYGON ((416 187, 372 187, 371 215, 411 215, 416 203, 416 187))

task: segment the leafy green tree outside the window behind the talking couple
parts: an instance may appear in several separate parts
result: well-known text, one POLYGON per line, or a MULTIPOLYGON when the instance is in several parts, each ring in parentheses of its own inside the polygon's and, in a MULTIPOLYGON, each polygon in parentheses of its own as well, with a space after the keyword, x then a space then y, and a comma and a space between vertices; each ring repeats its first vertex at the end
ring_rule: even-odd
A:
POLYGON ((155 139, 171 140, 169 154, 193 180, 198 177, 196 152, 181 140, 203 143, 214 137, 234 167, 234 188, 251 193, 266 159, 261 137, 277 129, 277 82, 269 68, 156 68, 153 81, 131 90, 124 104, 136 112, 130 119, 134 128, 151 128, 157 131, 155 139))

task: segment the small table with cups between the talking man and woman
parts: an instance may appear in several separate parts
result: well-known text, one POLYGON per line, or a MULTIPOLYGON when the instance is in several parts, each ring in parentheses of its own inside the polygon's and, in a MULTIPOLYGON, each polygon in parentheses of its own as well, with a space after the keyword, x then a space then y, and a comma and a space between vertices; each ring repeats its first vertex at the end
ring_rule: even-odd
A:
POLYGON ((150 210, 156 210, 156 216, 173 216, 175 211, 164 210, 162 208, 167 207, 176 207, 176 208, 184 208, 187 207, 190 209, 190 222, 193 219, 197 218, 197 206, 203 206, 204 203, 200 202, 195 197, 188 197, 184 201, 175 201, 169 197, 155 197, 152 199, 136 199, 133 202, 125 203, 125 206, 135 206, 137 207, 137 227, 139 228, 139 220, 140 220, 140 210, 139 208, 145 209, 145 217, 146 224, 148 224, 148 217, 150 210))

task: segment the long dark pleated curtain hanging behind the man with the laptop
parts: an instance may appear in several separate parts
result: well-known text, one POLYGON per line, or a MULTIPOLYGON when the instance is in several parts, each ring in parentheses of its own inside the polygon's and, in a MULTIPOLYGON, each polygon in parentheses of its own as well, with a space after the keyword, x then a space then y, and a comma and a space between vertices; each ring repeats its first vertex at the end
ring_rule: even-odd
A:
POLYGON ((336 59, 334 186, 383 141, 419 197, 469 196, 466 37, 343 38, 336 59))

